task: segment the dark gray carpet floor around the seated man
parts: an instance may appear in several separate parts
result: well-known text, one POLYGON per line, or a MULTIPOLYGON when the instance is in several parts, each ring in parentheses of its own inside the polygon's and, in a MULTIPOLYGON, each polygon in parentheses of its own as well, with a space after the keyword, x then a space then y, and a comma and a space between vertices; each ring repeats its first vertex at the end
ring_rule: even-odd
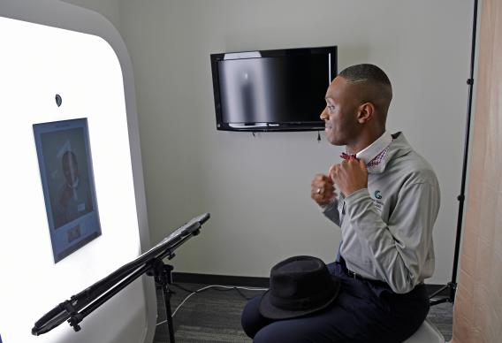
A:
MULTIPOLYGON (((197 290, 206 285, 179 284, 186 289, 197 290)), ((175 293, 171 296, 171 311, 174 312, 189 292, 176 286, 171 286, 175 293)), ((259 295, 261 292, 240 291, 247 298, 259 295)), ((251 342, 240 327, 240 313, 247 300, 236 290, 216 290, 210 288, 201 293, 195 293, 178 309, 173 316, 175 339, 177 343, 196 342, 251 342)), ((165 306, 162 291, 157 290, 158 318, 157 322, 165 320, 165 306)), ((448 341, 452 337, 453 305, 443 303, 430 308, 429 320, 448 341)), ((154 343, 169 342, 167 324, 156 327, 154 343)))

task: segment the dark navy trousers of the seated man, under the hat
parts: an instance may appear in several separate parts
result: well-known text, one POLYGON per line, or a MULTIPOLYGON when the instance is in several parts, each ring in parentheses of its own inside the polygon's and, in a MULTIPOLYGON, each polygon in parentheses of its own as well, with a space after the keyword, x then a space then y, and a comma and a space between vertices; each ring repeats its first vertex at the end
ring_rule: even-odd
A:
POLYGON ((418 330, 429 312, 424 285, 398 294, 383 282, 349 277, 345 263, 331 263, 328 268, 341 279, 340 292, 330 307, 274 321, 260 315, 261 297, 256 297, 242 312, 247 336, 255 343, 400 343, 418 330))

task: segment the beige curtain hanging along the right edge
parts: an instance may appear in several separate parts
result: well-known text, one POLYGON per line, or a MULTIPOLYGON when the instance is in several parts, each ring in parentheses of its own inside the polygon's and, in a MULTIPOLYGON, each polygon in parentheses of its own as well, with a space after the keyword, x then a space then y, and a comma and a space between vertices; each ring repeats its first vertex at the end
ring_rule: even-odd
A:
POLYGON ((502 342, 502 0, 483 0, 454 343, 502 342))

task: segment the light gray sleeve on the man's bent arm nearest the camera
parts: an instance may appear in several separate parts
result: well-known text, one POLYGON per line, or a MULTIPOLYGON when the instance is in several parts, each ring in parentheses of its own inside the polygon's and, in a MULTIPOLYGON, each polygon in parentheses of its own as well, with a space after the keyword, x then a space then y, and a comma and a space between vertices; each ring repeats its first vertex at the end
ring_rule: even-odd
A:
POLYGON ((403 186, 389 223, 380 217, 367 188, 350 194, 345 202, 345 220, 350 220, 361 244, 367 247, 374 277, 387 282, 396 293, 413 290, 422 281, 426 259, 433 251, 432 228, 439 210, 437 185, 403 186))

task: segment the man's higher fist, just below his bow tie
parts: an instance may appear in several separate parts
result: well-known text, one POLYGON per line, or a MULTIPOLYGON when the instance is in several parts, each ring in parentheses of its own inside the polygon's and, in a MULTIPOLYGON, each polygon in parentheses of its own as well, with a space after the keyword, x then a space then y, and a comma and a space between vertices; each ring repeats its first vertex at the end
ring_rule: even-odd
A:
POLYGON ((330 177, 345 196, 368 188, 368 168, 363 160, 351 158, 330 168, 330 177))

